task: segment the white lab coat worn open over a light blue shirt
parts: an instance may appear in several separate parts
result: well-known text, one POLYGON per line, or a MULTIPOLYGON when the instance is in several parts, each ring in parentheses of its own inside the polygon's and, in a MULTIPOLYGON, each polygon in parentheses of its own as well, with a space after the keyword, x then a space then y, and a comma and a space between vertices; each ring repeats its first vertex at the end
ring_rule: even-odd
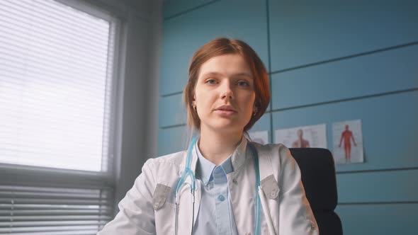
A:
MULTIPOLYGON (((317 222, 305 197, 300 169, 290 151, 282 144, 254 147, 259 154, 261 188, 266 195, 276 234, 317 235, 317 222)), ((198 156, 193 151, 194 172, 198 156)), ((174 192, 186 164, 186 151, 149 159, 135 184, 120 201, 120 212, 98 235, 174 234, 174 192)), ((256 171, 252 151, 243 137, 232 154, 234 171, 227 175, 232 212, 238 234, 254 234, 256 171)), ((186 183, 190 183, 190 178, 186 183)), ((193 224, 200 205, 200 183, 196 183, 193 224)), ((178 234, 191 233, 191 190, 183 187, 179 202, 178 234)), ((261 210, 261 209, 260 209, 261 210)), ((261 210, 261 234, 269 234, 266 217, 261 210)))

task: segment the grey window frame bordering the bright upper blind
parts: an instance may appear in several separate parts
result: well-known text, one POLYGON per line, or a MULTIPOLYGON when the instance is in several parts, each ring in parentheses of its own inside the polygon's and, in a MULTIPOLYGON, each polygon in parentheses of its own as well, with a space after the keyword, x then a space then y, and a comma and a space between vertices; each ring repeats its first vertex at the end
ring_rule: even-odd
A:
MULTIPOLYGON (((113 42, 113 71, 111 78, 110 116, 108 124, 108 164, 106 171, 80 171, 43 166, 26 166, 0 163, 0 183, 3 185, 23 185, 33 187, 57 188, 111 188, 113 190, 113 212, 117 210, 115 195, 116 181, 120 172, 122 130, 123 130, 123 91, 125 80, 125 55, 128 38, 127 18, 120 8, 103 4, 103 1, 64 1, 60 4, 76 8, 93 16, 111 22, 115 36, 113 42)), ((108 58, 109 61, 109 58, 108 58)))

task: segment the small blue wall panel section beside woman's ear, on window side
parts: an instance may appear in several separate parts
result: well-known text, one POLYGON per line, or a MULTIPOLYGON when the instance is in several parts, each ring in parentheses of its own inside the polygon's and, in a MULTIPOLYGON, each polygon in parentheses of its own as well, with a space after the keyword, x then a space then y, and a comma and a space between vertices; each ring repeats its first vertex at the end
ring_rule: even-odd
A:
POLYGON ((186 124, 186 120, 183 93, 159 98, 159 127, 186 124))

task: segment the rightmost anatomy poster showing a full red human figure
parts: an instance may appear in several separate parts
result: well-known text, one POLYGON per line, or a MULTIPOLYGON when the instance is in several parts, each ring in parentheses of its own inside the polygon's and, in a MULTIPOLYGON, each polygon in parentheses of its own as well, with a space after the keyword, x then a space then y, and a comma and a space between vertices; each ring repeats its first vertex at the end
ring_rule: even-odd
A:
POLYGON ((332 150, 336 164, 363 162, 363 135, 361 133, 361 120, 332 124, 332 150))

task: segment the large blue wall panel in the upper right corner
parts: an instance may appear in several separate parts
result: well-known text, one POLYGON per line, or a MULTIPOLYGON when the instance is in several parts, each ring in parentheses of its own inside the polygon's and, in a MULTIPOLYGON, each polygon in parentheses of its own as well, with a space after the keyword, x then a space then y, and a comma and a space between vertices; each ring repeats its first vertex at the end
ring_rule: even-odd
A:
POLYGON ((414 0, 269 1, 271 71, 418 41, 414 0))

